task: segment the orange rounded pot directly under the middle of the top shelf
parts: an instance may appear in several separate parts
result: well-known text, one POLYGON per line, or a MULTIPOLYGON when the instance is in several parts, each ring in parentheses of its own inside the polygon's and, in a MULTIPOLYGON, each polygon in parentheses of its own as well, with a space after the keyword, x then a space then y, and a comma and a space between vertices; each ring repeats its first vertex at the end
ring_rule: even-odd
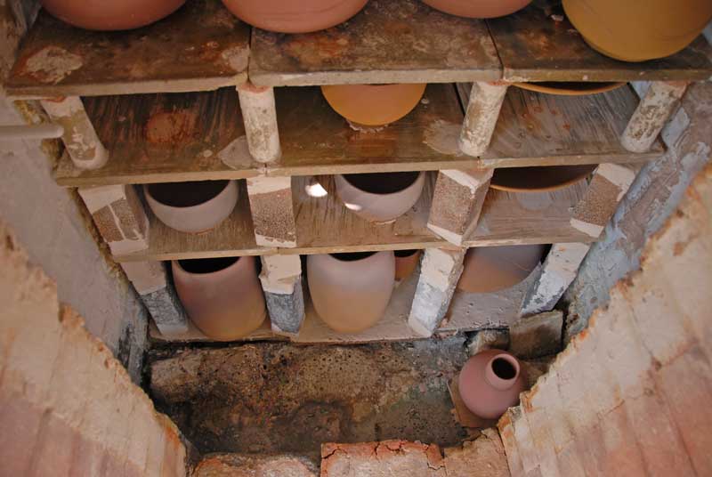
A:
POLYGON ((406 116, 425 93, 425 84, 328 85, 329 106, 355 125, 387 125, 406 116))

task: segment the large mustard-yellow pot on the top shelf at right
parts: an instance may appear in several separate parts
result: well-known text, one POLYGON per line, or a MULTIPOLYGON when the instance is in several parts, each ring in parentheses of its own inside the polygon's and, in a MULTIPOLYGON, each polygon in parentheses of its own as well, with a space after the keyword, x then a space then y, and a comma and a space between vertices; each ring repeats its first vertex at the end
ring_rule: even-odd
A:
POLYGON ((709 0, 563 0, 563 9, 587 44, 622 61, 675 54, 712 19, 709 0))

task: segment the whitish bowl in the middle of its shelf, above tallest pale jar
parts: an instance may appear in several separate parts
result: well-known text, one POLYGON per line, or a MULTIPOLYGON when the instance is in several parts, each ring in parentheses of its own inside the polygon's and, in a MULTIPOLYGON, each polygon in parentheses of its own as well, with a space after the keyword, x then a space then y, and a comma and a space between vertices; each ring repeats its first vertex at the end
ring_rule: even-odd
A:
MULTIPOLYGON (((381 176, 384 182, 389 181, 394 174, 354 174, 355 176, 381 176)), ((371 222, 392 222, 416 205, 417 199, 425 186, 425 172, 417 174, 417 179, 408 187, 390 193, 374 193, 363 190, 344 175, 336 175, 336 194, 344 202, 344 206, 354 214, 358 214, 371 222)))

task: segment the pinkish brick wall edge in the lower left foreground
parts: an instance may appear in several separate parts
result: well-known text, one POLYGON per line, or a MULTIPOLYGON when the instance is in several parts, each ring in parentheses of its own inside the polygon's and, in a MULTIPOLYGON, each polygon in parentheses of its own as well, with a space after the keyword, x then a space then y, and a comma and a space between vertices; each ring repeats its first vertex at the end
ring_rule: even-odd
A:
POLYGON ((175 425, 0 222, 0 476, 184 476, 175 425))

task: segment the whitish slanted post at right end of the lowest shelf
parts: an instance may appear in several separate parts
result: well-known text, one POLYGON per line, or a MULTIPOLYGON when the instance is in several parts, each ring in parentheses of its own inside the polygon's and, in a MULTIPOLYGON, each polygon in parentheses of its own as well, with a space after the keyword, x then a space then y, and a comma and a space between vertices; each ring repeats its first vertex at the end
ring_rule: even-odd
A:
POLYGON ((520 316, 552 311, 578 273, 590 244, 554 244, 536 282, 527 291, 520 316))

